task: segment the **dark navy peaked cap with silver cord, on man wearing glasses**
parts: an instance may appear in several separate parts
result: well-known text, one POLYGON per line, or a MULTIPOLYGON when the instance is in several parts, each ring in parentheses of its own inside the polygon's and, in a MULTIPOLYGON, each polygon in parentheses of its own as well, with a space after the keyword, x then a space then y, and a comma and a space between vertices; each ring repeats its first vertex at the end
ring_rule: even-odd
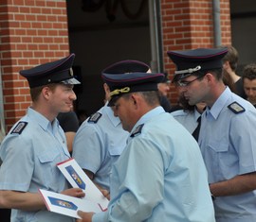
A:
POLYGON ((222 68, 227 48, 197 48, 187 51, 168 51, 167 55, 176 65, 173 82, 190 77, 195 72, 222 68))

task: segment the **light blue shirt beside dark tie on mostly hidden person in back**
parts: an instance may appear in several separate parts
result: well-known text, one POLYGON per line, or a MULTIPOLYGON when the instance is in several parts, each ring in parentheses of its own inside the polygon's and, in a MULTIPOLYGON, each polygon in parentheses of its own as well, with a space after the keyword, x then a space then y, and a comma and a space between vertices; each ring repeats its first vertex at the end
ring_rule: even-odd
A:
POLYGON ((191 134, 198 125, 197 119, 201 116, 201 114, 196 109, 193 111, 173 111, 171 114, 174 116, 174 119, 178 121, 183 127, 187 128, 191 134))

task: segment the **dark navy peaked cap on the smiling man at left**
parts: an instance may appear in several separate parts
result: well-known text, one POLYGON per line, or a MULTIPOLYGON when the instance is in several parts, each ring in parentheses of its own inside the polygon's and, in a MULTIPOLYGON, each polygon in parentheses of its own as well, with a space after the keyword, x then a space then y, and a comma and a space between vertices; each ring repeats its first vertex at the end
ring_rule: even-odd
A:
POLYGON ((31 69, 22 70, 20 75, 27 78, 30 88, 50 83, 80 84, 73 77, 72 65, 74 59, 75 54, 71 54, 62 60, 55 60, 31 69))

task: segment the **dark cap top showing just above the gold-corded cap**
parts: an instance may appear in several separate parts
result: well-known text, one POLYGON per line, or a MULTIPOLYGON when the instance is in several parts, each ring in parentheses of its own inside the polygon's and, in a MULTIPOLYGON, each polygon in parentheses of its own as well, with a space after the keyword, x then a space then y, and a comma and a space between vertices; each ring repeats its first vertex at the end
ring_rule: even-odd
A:
POLYGON ((143 72, 146 73, 150 67, 139 60, 121 60, 116 62, 107 68, 105 68, 102 73, 107 74, 125 74, 125 73, 135 73, 143 72))

